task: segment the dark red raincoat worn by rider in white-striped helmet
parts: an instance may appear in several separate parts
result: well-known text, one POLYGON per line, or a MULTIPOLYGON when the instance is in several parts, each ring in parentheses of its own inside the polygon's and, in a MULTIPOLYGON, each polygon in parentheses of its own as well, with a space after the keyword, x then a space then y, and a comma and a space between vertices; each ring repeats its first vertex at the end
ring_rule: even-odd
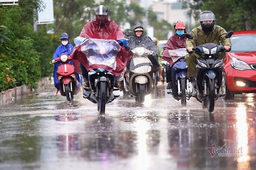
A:
MULTIPOLYGON (((97 38, 97 39, 105 39, 105 40, 119 40, 124 38, 124 34, 119 26, 108 18, 106 15, 104 20, 99 20, 96 16, 96 20, 92 20, 82 29, 80 33, 80 37, 84 38, 97 38)), ((121 51, 116 56, 116 70, 113 73, 116 77, 118 77, 121 72, 126 68, 126 64, 131 60, 133 52, 127 50, 124 46, 122 46, 121 51)), ((87 68, 87 61, 84 60, 84 54, 81 52, 81 46, 75 47, 71 58, 75 63, 75 71, 79 74, 82 74, 80 63, 87 68)), ((108 69, 106 69, 108 70, 108 69)), ((109 71, 109 70, 108 70, 109 71)))

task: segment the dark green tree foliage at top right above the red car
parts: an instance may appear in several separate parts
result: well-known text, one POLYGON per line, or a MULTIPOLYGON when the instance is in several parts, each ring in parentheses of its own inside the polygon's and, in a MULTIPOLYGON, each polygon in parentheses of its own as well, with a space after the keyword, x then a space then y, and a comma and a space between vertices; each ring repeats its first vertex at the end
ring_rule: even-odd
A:
POLYGON ((215 14, 216 23, 226 30, 250 30, 256 28, 255 0, 182 0, 184 8, 198 20, 201 11, 215 14))

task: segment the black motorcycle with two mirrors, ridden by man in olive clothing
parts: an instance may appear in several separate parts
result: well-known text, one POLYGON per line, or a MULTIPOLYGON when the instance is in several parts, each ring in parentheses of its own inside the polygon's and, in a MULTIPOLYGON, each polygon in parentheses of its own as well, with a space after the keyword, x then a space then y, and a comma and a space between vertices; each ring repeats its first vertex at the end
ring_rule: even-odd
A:
MULTIPOLYGON (((232 34, 233 31, 227 32, 225 38, 230 38, 232 34)), ((189 33, 185 33, 185 36, 188 39, 194 40, 193 36, 189 33)), ((197 41, 195 40, 195 42, 197 41)), ((196 46, 192 51, 188 51, 204 55, 204 57, 196 59, 195 85, 197 87, 197 95, 195 98, 202 103, 202 108, 208 108, 209 112, 214 111, 215 100, 218 97, 224 96, 224 94, 220 94, 223 59, 215 56, 224 50, 225 48, 222 45, 206 43, 196 46)))

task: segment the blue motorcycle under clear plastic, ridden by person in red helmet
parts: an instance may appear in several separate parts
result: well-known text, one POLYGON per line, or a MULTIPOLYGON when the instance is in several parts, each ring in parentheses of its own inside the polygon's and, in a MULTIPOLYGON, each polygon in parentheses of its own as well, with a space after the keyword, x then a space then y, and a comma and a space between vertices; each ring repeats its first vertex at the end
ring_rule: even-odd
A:
POLYGON ((172 89, 167 94, 172 94, 173 98, 180 100, 182 106, 186 106, 186 100, 190 99, 192 93, 192 86, 189 84, 187 78, 188 66, 185 62, 187 54, 186 48, 178 48, 176 50, 168 50, 173 64, 172 69, 172 89))

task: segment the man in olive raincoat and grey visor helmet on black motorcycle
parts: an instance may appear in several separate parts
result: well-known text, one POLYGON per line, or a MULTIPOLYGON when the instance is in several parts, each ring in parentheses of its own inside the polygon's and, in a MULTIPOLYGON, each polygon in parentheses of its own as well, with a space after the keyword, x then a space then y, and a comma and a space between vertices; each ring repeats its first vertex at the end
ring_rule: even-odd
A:
MULTIPOLYGON (((188 51, 192 51, 196 45, 203 45, 208 42, 215 43, 220 45, 220 42, 225 48, 225 51, 230 51, 231 49, 231 41, 230 39, 226 39, 225 35, 227 31, 221 26, 215 25, 215 15, 212 11, 203 11, 199 15, 199 21, 201 26, 198 26, 192 29, 191 34, 194 37, 194 40, 187 39, 186 40, 186 49, 188 51)), ((216 56, 224 58, 226 56, 225 52, 220 52, 216 54, 216 56)), ((199 55, 196 53, 187 54, 185 57, 186 65, 188 66, 188 77, 190 82, 194 82, 195 73, 196 73, 196 58, 204 57, 204 55, 199 55)))

